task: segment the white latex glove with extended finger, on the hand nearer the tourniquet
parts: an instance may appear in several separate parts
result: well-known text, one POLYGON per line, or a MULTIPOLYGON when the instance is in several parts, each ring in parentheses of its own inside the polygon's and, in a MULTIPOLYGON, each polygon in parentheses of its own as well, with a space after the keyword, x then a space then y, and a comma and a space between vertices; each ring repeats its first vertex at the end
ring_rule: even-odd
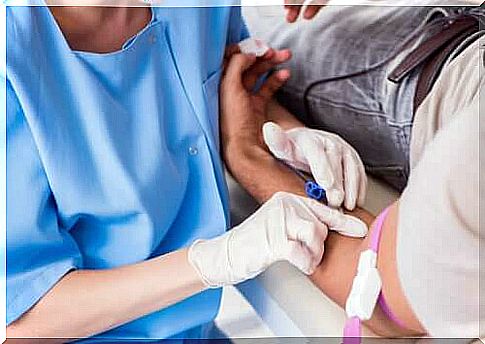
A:
POLYGON ((277 193, 241 225, 189 248, 189 262, 210 288, 253 278, 271 264, 286 260, 312 274, 323 257, 328 228, 363 237, 360 220, 317 201, 277 193))

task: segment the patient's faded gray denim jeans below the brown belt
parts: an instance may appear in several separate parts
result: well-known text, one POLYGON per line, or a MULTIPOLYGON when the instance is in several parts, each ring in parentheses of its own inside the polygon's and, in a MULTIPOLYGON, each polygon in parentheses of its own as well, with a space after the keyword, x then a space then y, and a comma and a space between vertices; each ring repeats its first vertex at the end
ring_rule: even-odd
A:
POLYGON ((307 125, 339 134, 367 171, 398 190, 409 176, 414 94, 420 68, 396 84, 387 79, 406 44, 433 34, 431 22, 459 7, 330 6, 300 26, 264 18, 253 34, 291 48, 292 78, 279 100, 307 125))

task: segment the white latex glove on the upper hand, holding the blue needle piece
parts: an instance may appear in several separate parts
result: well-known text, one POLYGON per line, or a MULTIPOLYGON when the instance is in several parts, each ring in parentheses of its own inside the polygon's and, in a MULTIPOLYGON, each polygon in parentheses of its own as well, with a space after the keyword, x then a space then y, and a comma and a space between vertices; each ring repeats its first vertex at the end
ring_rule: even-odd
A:
POLYGON ((354 210, 363 206, 367 176, 359 154, 340 136, 310 128, 284 131, 275 123, 263 126, 271 153, 288 165, 311 173, 327 192, 328 204, 354 210))

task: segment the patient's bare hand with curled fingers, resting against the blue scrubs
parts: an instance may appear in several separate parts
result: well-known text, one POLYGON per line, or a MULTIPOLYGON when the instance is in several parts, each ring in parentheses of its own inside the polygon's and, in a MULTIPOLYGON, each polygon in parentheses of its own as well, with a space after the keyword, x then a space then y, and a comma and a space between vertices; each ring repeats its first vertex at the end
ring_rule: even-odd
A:
POLYGON ((262 58, 245 55, 228 49, 225 72, 221 84, 220 129, 223 152, 231 147, 265 147, 262 127, 267 118, 267 108, 274 93, 288 80, 288 70, 272 73, 263 85, 254 91, 261 76, 276 65, 290 58, 288 50, 270 49, 262 58))

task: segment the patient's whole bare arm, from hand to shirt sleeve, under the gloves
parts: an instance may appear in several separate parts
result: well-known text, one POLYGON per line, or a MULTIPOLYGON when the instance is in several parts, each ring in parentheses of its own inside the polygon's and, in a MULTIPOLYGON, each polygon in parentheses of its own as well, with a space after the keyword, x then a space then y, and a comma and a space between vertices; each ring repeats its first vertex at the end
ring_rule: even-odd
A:
MULTIPOLYGON (((278 55, 278 54, 277 54, 278 55)), ((277 56, 275 55, 275 56, 277 56)), ((279 55, 285 55, 280 52, 279 55)), ((281 60, 284 56, 281 57, 281 60)), ((276 59, 278 60, 278 59, 276 59)), ((288 111, 268 99, 282 79, 271 77, 257 95, 250 94, 243 85, 248 71, 248 58, 238 56, 228 67, 221 85, 221 137, 222 153, 226 166, 235 179, 259 202, 268 200, 278 191, 305 195, 303 181, 293 171, 278 162, 261 140, 262 125, 274 121, 285 129, 301 126, 288 111), (259 106, 260 108, 257 108, 259 106)), ((256 68, 257 70, 257 68, 256 68)), ((287 73, 279 74, 287 78, 287 73)), ((396 211, 393 207, 385 222, 380 245, 378 268, 383 280, 383 292, 393 312, 412 331, 401 331, 376 310, 369 327, 374 332, 389 336, 423 333, 419 322, 406 302, 400 288, 396 269, 396 211)), ((353 215, 371 224, 374 218, 364 210, 353 215)), ((341 306, 349 293, 360 252, 368 248, 367 240, 351 239, 331 233, 325 244, 325 255, 318 271, 311 277, 313 282, 341 306)))

